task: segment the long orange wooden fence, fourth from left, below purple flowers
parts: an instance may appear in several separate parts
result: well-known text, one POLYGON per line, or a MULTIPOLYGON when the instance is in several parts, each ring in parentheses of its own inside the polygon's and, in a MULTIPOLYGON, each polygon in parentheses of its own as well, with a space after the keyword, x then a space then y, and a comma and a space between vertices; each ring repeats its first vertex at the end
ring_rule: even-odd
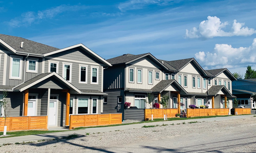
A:
POLYGON ((228 115, 229 108, 187 108, 187 117, 228 115))

